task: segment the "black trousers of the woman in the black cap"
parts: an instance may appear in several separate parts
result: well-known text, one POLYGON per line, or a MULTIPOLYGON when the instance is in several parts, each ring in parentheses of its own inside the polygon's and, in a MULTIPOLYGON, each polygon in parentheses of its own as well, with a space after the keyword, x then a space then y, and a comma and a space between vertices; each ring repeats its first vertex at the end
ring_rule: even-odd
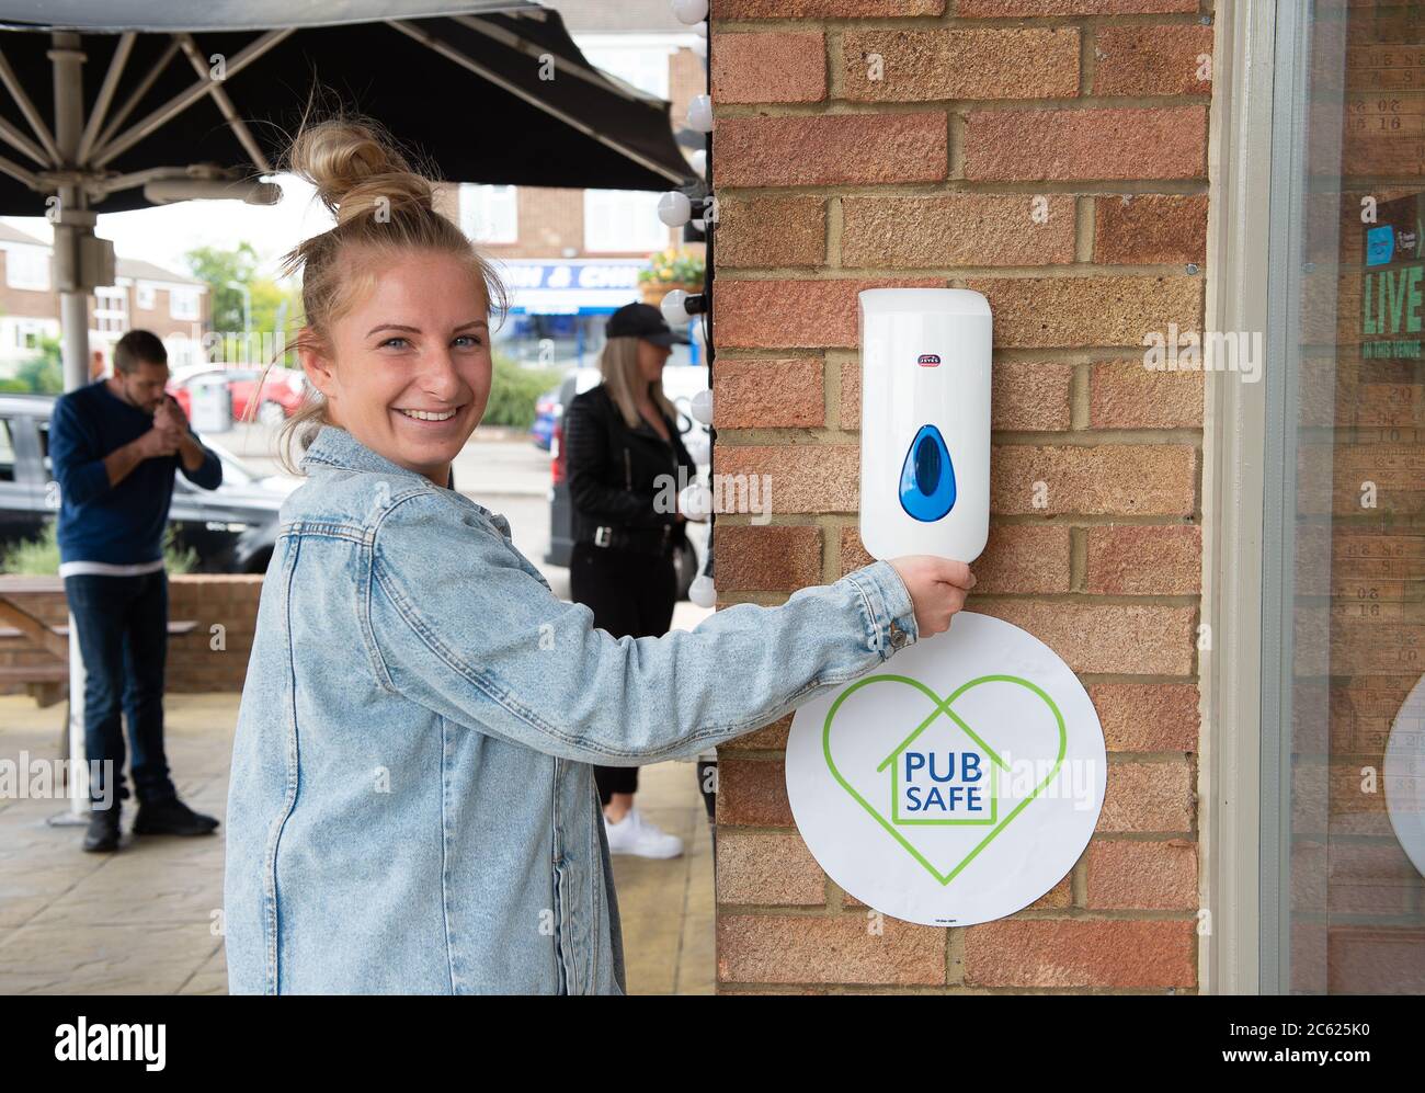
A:
MULTIPOLYGON (((593 610, 594 626, 614 637, 658 637, 673 626, 678 579, 671 557, 574 543, 569 560, 574 603, 593 610)), ((638 788, 637 767, 594 767, 598 799, 638 788)))

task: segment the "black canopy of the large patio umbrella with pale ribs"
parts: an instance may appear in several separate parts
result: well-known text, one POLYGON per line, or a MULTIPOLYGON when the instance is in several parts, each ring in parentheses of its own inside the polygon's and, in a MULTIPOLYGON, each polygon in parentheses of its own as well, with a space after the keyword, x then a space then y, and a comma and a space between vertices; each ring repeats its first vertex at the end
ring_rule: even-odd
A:
POLYGON ((155 168, 271 171, 314 90, 319 107, 375 117, 447 181, 670 190, 691 178, 668 104, 593 68, 556 11, 390 7, 222 0, 175 13, 137 0, 0 0, 0 214, 44 215, 46 197, 73 178, 58 174, 51 137, 56 30, 76 31, 84 57, 78 165, 98 212, 152 204, 142 182, 155 168))

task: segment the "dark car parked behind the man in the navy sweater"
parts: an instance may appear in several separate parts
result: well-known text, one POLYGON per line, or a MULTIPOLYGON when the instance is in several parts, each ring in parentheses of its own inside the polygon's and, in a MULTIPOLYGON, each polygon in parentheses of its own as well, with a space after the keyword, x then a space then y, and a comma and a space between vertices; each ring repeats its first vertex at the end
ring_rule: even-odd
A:
MULTIPOLYGON (((58 485, 50 463, 53 395, 0 395, 0 546, 37 539, 56 519, 58 485)), ((174 476, 168 524, 174 544, 192 547, 202 573, 265 573, 278 510, 299 479, 258 475, 204 437, 222 460, 222 485, 205 490, 174 476)))

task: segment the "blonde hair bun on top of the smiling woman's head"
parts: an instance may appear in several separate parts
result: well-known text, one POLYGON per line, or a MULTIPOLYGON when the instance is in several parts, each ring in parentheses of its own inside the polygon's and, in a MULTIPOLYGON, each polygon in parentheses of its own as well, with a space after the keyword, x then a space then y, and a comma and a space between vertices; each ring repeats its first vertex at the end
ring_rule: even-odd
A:
POLYGON ((370 214, 383 219, 400 209, 435 207, 430 181, 379 124, 365 118, 331 118, 304 127, 288 151, 288 170, 316 187, 339 225, 370 214))

